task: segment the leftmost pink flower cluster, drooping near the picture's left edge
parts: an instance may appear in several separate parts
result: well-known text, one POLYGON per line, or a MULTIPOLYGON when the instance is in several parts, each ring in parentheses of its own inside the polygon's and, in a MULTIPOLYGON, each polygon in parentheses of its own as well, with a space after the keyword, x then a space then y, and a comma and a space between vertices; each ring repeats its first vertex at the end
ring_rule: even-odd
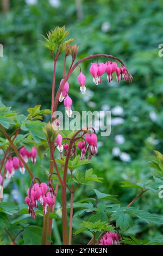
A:
MULTIPOLYGON (((32 148, 32 150, 29 152, 25 147, 22 147, 20 149, 20 154, 23 157, 25 162, 28 162, 28 159, 30 158, 33 163, 36 162, 36 155, 37 155, 37 149, 35 147, 32 148)), ((10 159, 7 160, 5 163, 5 168, 7 170, 7 173, 5 177, 7 179, 10 179, 11 177, 14 176, 16 170, 20 170, 22 174, 25 173, 25 168, 20 159, 18 157, 10 157, 10 159)))

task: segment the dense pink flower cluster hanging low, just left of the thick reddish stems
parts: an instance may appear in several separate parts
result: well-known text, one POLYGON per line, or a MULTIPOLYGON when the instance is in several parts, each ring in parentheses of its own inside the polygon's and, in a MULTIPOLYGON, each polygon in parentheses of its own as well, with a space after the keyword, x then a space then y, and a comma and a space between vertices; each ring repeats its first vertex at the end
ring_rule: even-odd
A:
POLYGON ((55 203, 55 191, 48 191, 46 183, 35 183, 27 191, 26 203, 29 206, 29 213, 32 218, 36 218, 34 208, 38 208, 37 202, 43 205, 43 214, 47 213, 47 206, 53 206, 55 203))

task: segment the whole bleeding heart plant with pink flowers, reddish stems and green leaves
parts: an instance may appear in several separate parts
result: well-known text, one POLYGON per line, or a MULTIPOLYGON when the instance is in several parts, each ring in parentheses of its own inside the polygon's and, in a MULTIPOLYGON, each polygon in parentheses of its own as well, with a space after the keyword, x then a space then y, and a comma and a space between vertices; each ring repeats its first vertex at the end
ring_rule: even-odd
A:
MULTIPOLYGON (((29 214, 32 218, 36 218, 37 213, 40 214, 40 211, 43 215, 42 245, 51 244, 48 237, 52 236, 52 216, 55 212, 58 190, 60 189, 62 194, 63 244, 71 245, 74 193, 79 186, 89 185, 90 182, 102 182, 102 178, 93 174, 92 169, 84 171, 84 174, 81 173, 80 170, 77 170, 78 167, 89 164, 90 159, 98 153, 98 139, 95 129, 91 126, 87 126, 78 131, 68 131, 66 133, 60 129, 60 120, 54 117, 55 112, 58 110, 59 102, 65 106, 68 117, 71 118, 72 116, 73 100, 71 84, 68 83, 68 79, 73 71, 79 67, 80 72, 77 76, 77 81, 80 84, 80 91, 84 97, 86 86, 89 87, 89 84, 86 82, 87 74, 86 72, 83 74, 81 64, 91 59, 90 73, 96 86, 101 86, 102 76, 104 77, 104 74, 106 74, 106 79, 109 83, 114 77, 116 77, 117 82, 121 80, 131 82, 133 80, 133 77, 130 75, 122 60, 109 54, 92 54, 75 62, 78 46, 76 44, 71 45, 74 39, 65 40, 68 33, 65 27, 57 27, 54 31, 48 32, 47 37, 43 36, 45 39, 43 45, 49 50, 54 60, 51 111, 48 109, 41 110, 41 106, 37 105, 34 108, 28 109, 28 115, 26 117, 25 115, 12 112, 10 108, 5 107, 2 103, 0 104, 0 108, 3 108, 4 113, 2 116, 0 115, 0 131, 3 139, 5 138, 7 141, 0 167, 0 188, 3 188, 5 179, 14 179, 16 170, 20 169, 20 172, 24 174, 26 169, 29 173, 32 181, 31 184, 28 185, 27 197, 24 200, 28 205, 29 214), (58 88, 56 88, 56 68, 61 54, 64 54, 63 78, 58 88), (70 63, 67 63, 67 56, 71 56, 70 63), (102 58, 104 62, 98 63, 99 58, 102 58), (66 72, 67 67, 68 71, 66 72), (57 89, 56 94, 55 89, 57 89), (51 113, 51 121, 46 124, 42 121, 42 115, 48 113, 51 113), (4 119, 1 120, 2 117, 5 117, 5 121, 4 119), (11 125, 14 129, 12 129, 12 133, 9 135, 9 132, 6 130, 8 130, 11 125), (47 156, 49 170, 47 172, 47 168, 44 167, 46 169, 46 176, 45 180, 41 181, 40 176, 35 176, 35 166, 38 164, 39 168, 42 168, 40 167, 41 164, 38 158, 39 155, 43 154, 47 156), (29 161, 29 159, 31 161, 29 161), (67 205, 67 195, 69 196, 69 194, 70 205, 67 205), (40 210, 38 210, 38 208, 40 210), (68 209, 70 209, 69 218, 67 218, 68 209)), ((112 198, 108 194, 95 190, 99 200, 109 198, 117 204, 113 206, 104 205, 102 218, 96 221, 92 219, 92 222, 87 221, 81 224, 82 229, 78 230, 76 234, 84 230, 90 231, 92 233, 92 239, 88 245, 120 245, 122 239, 117 228, 120 227, 121 230, 125 230, 133 223, 133 216, 140 217, 140 211, 130 208, 130 206, 147 191, 145 186, 132 185, 131 182, 130 187, 141 188, 142 191, 127 206, 124 206, 116 198, 112 198), (125 223, 122 222, 124 218, 127 220, 125 223)), ((2 192, 0 195, 1 194, 2 192)), ((82 204, 80 202, 78 205, 81 206, 82 211, 80 209, 79 213, 76 212, 76 216, 84 212, 92 213, 93 215, 102 212, 102 209, 96 202, 95 205, 90 202, 88 204, 82 204)))

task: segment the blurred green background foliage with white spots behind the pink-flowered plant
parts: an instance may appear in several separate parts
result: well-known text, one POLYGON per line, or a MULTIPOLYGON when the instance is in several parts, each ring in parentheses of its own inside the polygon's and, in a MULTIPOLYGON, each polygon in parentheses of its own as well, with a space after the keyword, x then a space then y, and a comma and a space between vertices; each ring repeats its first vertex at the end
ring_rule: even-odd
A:
MULTIPOLYGON (((79 69, 69 81, 72 109, 111 110, 111 135, 98 137, 99 153, 93 158, 94 172, 105 180, 95 187, 101 192, 117 194, 124 204, 133 199, 136 191, 124 190, 118 182, 146 181, 151 175, 152 151, 162 151, 163 58, 158 55, 158 46, 163 42, 162 4, 162 0, 1 0, 0 42, 4 56, 0 58, 0 99, 16 111, 27 113, 28 107, 37 104, 42 108, 51 106, 53 60, 40 40, 41 35, 55 26, 66 25, 70 30, 70 37, 79 45, 78 59, 106 53, 126 63, 134 77, 131 84, 118 84, 115 79, 108 84, 103 78, 103 83, 95 86, 89 73, 91 62, 81 65, 86 75, 84 96, 79 92, 79 69)), ((101 60, 106 62, 105 58, 101 60)), ((57 84, 62 77, 63 57, 57 66, 57 84)), ((39 172, 38 163, 36 169, 39 172)), ((25 194, 23 186, 21 190, 25 194)), ((75 199, 89 196, 95 194, 81 188, 75 199)), ((140 209, 163 214, 162 200, 152 192, 139 203, 140 209)), ((78 222, 76 218, 74 229, 78 222)), ((57 224, 54 243, 60 241, 61 221, 57 224)), ((125 235, 147 238, 161 231, 159 226, 137 220, 125 235)), ((87 237, 85 241, 81 236, 76 239, 81 243, 87 241, 87 237)))

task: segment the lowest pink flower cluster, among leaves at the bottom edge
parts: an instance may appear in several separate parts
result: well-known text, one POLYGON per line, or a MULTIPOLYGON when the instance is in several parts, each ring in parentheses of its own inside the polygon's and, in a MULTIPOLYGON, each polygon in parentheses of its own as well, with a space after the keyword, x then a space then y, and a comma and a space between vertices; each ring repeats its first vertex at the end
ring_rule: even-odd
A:
POLYGON ((100 240, 99 245, 120 245, 119 237, 116 233, 107 232, 100 240))

